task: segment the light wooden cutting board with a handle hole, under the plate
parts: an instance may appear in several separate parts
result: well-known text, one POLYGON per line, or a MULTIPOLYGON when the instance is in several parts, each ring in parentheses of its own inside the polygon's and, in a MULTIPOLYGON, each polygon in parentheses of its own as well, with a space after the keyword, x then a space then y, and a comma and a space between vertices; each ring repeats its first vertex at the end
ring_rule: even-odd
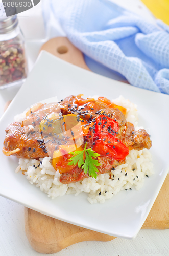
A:
MULTIPOLYGON (((57 37, 47 41, 41 50, 46 50, 65 61, 89 70, 82 52, 73 46, 66 37, 57 37)), ((169 175, 167 175, 142 228, 169 228, 169 175)), ((31 246, 41 253, 56 253, 69 245, 82 241, 110 241, 115 239, 115 237, 106 234, 45 216, 26 207, 25 230, 31 246)))

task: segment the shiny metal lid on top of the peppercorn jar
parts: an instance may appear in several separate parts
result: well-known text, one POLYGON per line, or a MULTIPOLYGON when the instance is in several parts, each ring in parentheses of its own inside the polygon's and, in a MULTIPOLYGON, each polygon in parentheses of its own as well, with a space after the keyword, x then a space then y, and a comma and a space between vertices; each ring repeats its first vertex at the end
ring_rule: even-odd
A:
MULTIPOLYGON (((16 9, 11 8, 11 15, 16 13, 16 9)), ((18 25, 18 19, 16 15, 7 17, 6 13, 4 13, 6 10, 4 10, 3 3, 0 3, 0 34, 6 34, 11 32, 16 28, 18 25)))

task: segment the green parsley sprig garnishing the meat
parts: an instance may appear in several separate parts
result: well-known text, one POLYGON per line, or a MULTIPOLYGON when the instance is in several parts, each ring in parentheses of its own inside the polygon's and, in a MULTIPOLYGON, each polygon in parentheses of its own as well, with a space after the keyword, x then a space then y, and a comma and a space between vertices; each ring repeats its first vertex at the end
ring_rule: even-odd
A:
POLYGON ((97 178, 96 172, 98 172, 98 169, 96 166, 100 166, 101 164, 99 163, 98 160, 93 159, 92 157, 99 157, 100 154, 96 153, 94 150, 91 148, 86 149, 87 142, 85 144, 84 150, 83 151, 73 151, 69 152, 69 154, 74 155, 69 159, 71 161, 68 163, 68 165, 76 165, 78 163, 78 167, 80 168, 82 166, 82 170, 84 170, 84 173, 89 174, 92 178, 97 178), (85 161, 84 161, 84 154, 86 156, 85 161))

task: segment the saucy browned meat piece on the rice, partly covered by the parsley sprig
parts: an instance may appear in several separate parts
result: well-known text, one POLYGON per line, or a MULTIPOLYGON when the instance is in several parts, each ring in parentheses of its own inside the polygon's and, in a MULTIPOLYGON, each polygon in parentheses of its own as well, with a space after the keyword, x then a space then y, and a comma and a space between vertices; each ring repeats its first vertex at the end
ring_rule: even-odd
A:
MULTIPOLYGON (((99 162, 101 163, 101 165, 97 167, 97 169, 99 170, 97 174, 105 174, 109 173, 113 167, 115 168, 120 164, 125 164, 126 159, 120 161, 113 161, 113 159, 107 156, 102 156, 100 157, 99 162)), ((63 184, 68 184, 83 180, 84 178, 89 178, 88 173, 85 174, 82 169, 76 166, 73 170, 71 170, 71 172, 61 174, 60 182, 62 182, 63 184)))

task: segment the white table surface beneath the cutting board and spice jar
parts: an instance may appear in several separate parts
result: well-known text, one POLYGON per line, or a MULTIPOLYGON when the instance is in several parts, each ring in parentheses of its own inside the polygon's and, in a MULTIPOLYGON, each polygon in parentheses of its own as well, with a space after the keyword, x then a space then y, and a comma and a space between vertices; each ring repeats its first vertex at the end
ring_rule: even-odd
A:
MULTIPOLYGON (((154 21, 153 16, 140 0, 113 1, 142 15, 151 22, 154 21)), ((20 27, 26 37, 29 70, 31 70, 45 38, 41 5, 38 4, 18 16, 20 27)), ((63 34, 58 30, 58 36, 63 34)), ((14 98, 18 89, 19 87, 13 87, 0 91, 0 117, 3 115, 5 103, 14 98)), ((0 197, 0 227, 0 256, 40 255, 32 249, 27 240, 22 205, 0 197)), ((116 238, 110 242, 81 242, 53 255, 64 254, 74 256, 169 255, 169 230, 140 230, 134 240, 116 238)))

